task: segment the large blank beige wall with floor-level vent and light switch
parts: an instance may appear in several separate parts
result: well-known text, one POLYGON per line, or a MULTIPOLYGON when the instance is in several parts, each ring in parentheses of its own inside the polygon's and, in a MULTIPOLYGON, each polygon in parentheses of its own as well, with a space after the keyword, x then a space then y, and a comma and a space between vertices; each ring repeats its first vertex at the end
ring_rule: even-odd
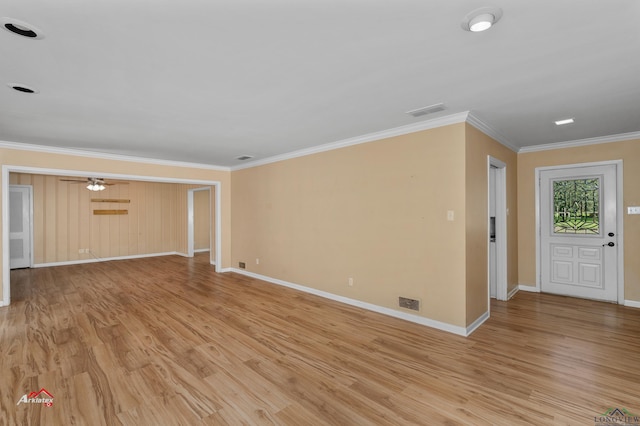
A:
POLYGON ((464 136, 457 124, 233 172, 233 265, 391 309, 418 298, 418 315, 465 326, 464 136))

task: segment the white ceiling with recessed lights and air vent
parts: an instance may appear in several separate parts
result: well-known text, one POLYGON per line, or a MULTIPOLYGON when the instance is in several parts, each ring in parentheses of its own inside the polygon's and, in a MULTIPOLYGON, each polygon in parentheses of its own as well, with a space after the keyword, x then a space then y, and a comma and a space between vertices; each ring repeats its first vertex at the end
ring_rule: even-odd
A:
POLYGON ((515 148, 640 131, 638 0, 5 0, 0 17, 44 33, 0 30, 3 141, 233 167, 463 111, 515 148), (484 6, 498 24, 463 31, 484 6))

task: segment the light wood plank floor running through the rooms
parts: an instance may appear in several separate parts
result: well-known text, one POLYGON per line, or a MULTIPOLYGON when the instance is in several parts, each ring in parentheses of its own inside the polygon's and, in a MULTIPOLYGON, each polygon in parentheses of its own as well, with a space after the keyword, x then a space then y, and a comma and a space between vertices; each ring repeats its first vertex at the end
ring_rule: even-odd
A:
POLYGON ((0 425, 594 425, 640 413, 640 310, 518 293, 463 338, 206 256, 15 270, 0 425), (54 404, 20 404, 46 389, 54 404))

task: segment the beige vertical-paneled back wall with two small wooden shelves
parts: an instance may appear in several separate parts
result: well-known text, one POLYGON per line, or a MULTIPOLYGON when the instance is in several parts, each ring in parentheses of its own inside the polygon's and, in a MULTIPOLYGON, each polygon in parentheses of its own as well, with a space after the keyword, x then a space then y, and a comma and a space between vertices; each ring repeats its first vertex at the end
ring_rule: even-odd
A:
POLYGON ((35 264, 187 252, 186 193, 197 186, 130 181, 91 192, 62 178, 10 176, 11 184, 33 186, 35 264), (96 198, 130 202, 91 201, 96 198), (93 214, 97 209, 126 209, 128 214, 93 214))

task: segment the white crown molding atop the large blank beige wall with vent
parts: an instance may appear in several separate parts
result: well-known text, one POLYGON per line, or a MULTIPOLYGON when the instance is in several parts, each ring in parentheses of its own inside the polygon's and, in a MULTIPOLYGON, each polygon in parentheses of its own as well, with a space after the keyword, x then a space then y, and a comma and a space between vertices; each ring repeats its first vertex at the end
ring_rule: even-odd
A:
POLYGON ((276 163, 278 161, 290 160, 292 158, 304 157, 306 155, 318 154, 320 152, 332 151, 334 149, 345 148, 352 145, 359 145, 367 142, 375 142, 381 139, 391 138, 394 136, 407 135, 422 130, 435 129, 437 127, 448 126, 450 124, 464 123, 467 121, 469 111, 451 114, 444 117, 434 118, 432 120, 421 121, 419 123, 408 124, 406 126, 394 127, 392 129, 382 130, 379 132, 368 133, 366 135, 355 136, 353 138, 343 139, 336 142, 329 142, 322 145, 313 146, 311 148, 300 149, 286 154, 274 155, 272 157, 263 158, 261 160, 251 161, 242 165, 231 167, 231 171, 248 169, 265 164, 276 163))

